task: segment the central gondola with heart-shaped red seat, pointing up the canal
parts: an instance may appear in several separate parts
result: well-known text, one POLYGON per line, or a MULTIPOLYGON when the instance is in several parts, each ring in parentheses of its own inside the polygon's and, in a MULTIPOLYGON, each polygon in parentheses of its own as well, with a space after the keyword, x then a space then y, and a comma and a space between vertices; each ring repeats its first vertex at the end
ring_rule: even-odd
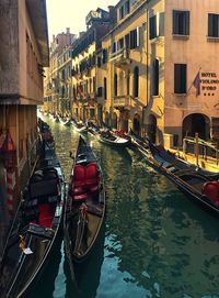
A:
MULTIPOLYGON (((105 188, 99 161, 80 136, 65 210, 65 249, 71 273, 99 236, 105 216, 105 188)), ((73 277, 73 276, 72 276, 73 277)))

